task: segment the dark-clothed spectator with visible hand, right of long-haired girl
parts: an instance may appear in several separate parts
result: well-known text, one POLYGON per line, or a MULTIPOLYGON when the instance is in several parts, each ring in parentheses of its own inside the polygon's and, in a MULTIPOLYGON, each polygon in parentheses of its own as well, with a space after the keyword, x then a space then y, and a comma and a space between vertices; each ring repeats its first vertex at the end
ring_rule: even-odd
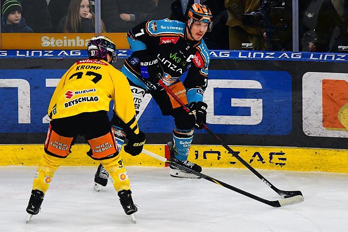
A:
POLYGON ((107 32, 127 32, 139 23, 155 19, 154 0, 102 0, 101 19, 107 32))

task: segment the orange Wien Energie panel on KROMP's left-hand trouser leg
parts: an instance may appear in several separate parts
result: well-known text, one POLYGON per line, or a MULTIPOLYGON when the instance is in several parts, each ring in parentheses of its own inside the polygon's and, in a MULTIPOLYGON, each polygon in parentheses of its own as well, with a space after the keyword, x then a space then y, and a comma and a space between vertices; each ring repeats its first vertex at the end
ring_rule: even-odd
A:
POLYGON ((52 130, 49 125, 47 138, 44 143, 44 152, 54 157, 65 158, 70 153, 73 137, 64 137, 52 130))

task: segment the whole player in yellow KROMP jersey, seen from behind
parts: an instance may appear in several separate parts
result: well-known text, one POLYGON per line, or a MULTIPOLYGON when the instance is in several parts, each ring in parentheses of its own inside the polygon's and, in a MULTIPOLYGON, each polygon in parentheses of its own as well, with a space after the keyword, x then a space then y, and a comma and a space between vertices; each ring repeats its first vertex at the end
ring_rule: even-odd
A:
POLYGON ((86 60, 76 62, 60 79, 48 107, 49 124, 44 154, 34 179, 27 207, 28 219, 39 213, 53 174, 64 162, 77 135, 85 136, 92 159, 99 160, 110 173, 125 213, 137 211, 131 197, 130 181, 119 155, 139 155, 145 135, 138 128, 131 88, 127 78, 111 63, 116 61, 116 46, 107 37, 93 37, 87 45, 86 60), (119 127, 111 126, 110 101, 119 117, 119 127))

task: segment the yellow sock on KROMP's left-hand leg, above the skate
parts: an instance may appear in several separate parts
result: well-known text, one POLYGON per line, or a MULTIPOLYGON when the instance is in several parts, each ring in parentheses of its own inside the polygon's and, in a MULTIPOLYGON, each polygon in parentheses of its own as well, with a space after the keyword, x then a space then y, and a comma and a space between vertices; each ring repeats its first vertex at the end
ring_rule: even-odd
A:
POLYGON ((63 158, 54 157, 44 153, 34 179, 33 190, 40 190, 46 193, 55 170, 57 170, 63 161, 63 158))

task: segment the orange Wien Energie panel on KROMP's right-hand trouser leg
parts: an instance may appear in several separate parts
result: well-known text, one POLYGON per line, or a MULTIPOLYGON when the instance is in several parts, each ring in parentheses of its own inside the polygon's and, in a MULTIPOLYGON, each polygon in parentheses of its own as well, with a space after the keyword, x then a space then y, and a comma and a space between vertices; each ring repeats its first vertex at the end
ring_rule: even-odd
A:
POLYGON ((87 140, 87 142, 90 146, 87 155, 92 159, 109 159, 119 154, 118 147, 115 144, 114 135, 111 132, 101 137, 87 140))

